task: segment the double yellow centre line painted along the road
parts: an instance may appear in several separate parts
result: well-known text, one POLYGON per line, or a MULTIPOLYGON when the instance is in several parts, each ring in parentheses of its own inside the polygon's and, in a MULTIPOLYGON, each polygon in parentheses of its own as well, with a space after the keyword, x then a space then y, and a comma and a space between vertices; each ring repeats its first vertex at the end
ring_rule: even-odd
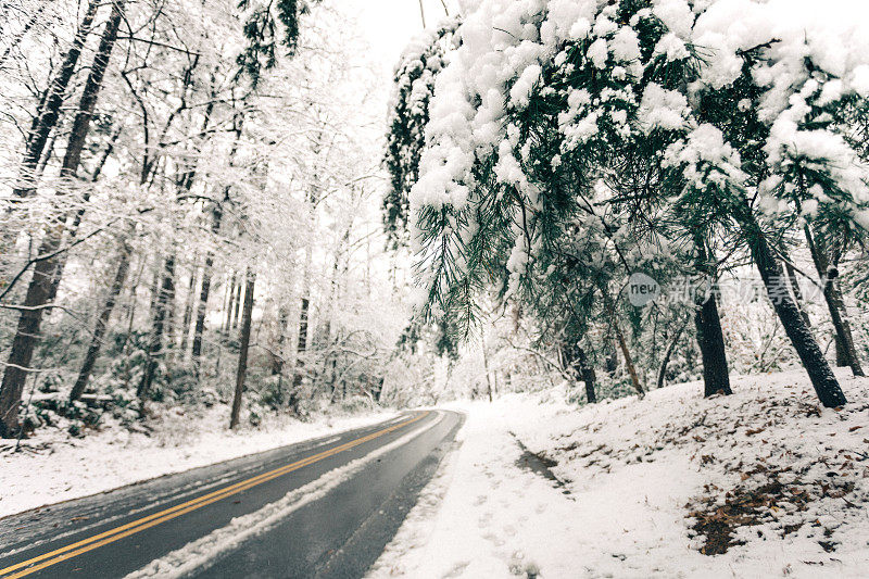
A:
POLYGON ((312 456, 308 456, 307 458, 302 458, 301 461, 290 463, 288 465, 275 468, 274 470, 263 473, 262 475, 251 477, 240 482, 236 482, 235 484, 230 484, 223 489, 218 489, 207 494, 203 494, 202 496, 192 499, 179 505, 175 505, 171 508, 166 508, 164 511, 160 511, 152 515, 148 515, 147 517, 134 520, 133 523, 127 523, 126 525, 121 525, 119 527, 115 527, 114 529, 103 531, 99 534, 95 534, 93 537, 76 541, 75 543, 68 544, 64 547, 56 549, 49 553, 45 553, 42 555, 29 558, 27 561, 23 561, 21 563, 16 563, 15 565, 11 565, 9 567, 0 569, 0 576, 3 576, 2 579, 15 579, 17 577, 24 577, 26 575, 30 575, 40 569, 45 569, 46 567, 56 565, 62 561, 73 558, 77 555, 80 555, 81 553, 87 553, 88 551, 92 551, 102 545, 113 543, 119 539, 129 537, 130 534, 136 534, 139 531, 143 531, 144 529, 150 529, 151 527, 160 525, 161 523, 172 520, 175 517, 180 517, 186 513, 190 513, 191 511, 196 511, 197 508, 202 508, 207 504, 221 501, 223 499, 226 499, 227 496, 231 496, 241 491, 245 491, 248 489, 256 487, 257 484, 262 484, 263 482, 267 482, 274 478, 286 475, 287 473, 298 470, 310 464, 316 463, 324 458, 328 458, 329 456, 333 456, 340 452, 344 452, 345 450, 352 449, 353 446, 358 446, 364 442, 368 442, 369 440, 374 440, 388 432, 392 432, 393 430, 398 430, 399 428, 407 426, 411 423, 415 423, 424 418, 428 414, 429 414, 428 412, 425 412, 423 414, 415 416, 414 418, 411 418, 410 420, 404 420, 403 423, 390 426, 389 428, 385 428, 382 430, 378 430, 377 432, 373 432, 370 435, 351 440, 350 442, 345 442, 339 446, 335 446, 327 451, 314 454, 312 456), (17 572, 14 572, 12 575, 7 575, 12 571, 17 571, 17 572))

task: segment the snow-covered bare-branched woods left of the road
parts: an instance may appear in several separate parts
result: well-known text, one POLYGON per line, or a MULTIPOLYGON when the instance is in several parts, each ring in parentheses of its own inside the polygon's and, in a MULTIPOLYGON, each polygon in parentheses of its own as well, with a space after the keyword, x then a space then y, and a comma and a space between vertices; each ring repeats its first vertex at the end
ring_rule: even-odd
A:
POLYGON ((287 4, 4 8, 4 436, 379 398, 383 112, 338 8, 287 4))

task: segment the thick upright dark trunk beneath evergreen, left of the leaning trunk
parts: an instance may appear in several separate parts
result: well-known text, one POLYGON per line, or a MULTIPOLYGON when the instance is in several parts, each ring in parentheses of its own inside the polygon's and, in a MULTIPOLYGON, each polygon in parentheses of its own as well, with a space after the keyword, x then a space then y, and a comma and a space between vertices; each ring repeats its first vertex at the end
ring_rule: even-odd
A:
POLYGON ((697 270, 709 279, 709 293, 704 295, 701 303, 694 307, 694 325, 697 329, 697 345, 703 360, 704 395, 717 393, 732 394, 730 376, 727 367, 727 352, 725 350, 725 335, 721 331, 721 318, 718 316, 718 280, 715 265, 706 251, 706 242, 696 238, 694 243, 697 250, 697 270))

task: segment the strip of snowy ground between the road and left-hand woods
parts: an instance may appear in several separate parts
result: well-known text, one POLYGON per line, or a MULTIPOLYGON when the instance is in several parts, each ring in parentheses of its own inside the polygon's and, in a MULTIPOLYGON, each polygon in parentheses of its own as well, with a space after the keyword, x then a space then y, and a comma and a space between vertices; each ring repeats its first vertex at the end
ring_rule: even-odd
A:
POLYGON ((106 429, 83 439, 39 431, 0 450, 0 517, 179 473, 245 454, 376 424, 396 413, 381 411, 301 423, 269 417, 259 428, 226 429, 225 406, 193 417, 168 412, 150 435, 106 429))

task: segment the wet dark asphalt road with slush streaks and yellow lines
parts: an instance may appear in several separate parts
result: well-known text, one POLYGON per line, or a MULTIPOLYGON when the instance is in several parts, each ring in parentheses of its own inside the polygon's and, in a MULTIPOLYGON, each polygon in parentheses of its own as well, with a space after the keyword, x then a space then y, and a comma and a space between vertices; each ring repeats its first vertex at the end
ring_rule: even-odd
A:
POLYGON ((407 413, 0 519, 0 577, 360 577, 462 420, 407 413))

